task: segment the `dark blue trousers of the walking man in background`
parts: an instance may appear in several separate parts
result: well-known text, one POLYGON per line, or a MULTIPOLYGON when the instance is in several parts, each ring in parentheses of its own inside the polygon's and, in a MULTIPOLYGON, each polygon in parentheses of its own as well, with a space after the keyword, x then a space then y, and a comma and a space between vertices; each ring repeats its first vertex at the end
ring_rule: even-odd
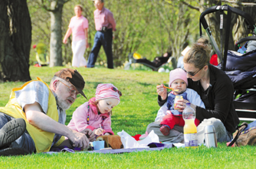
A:
POLYGON ((97 60, 97 56, 100 52, 100 47, 103 45, 105 54, 107 56, 107 64, 109 69, 114 69, 113 66, 113 54, 112 54, 112 29, 108 29, 106 32, 97 31, 94 37, 94 44, 92 51, 88 58, 87 68, 93 68, 97 60))

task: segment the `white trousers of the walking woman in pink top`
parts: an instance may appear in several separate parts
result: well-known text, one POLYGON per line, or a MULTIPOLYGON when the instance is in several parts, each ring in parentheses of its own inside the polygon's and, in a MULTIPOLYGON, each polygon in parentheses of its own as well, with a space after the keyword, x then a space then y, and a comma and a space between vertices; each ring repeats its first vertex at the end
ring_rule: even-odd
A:
POLYGON ((85 67, 87 65, 87 62, 84 57, 85 49, 86 49, 85 40, 72 42, 72 52, 73 52, 72 66, 73 67, 85 67))

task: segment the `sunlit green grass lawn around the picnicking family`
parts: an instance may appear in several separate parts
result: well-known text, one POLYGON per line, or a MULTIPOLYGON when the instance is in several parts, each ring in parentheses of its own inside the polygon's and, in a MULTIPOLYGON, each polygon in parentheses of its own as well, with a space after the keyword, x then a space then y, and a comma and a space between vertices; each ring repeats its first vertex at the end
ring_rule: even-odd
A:
MULTIPOLYGON (((50 83, 55 72, 63 67, 30 67, 31 79, 40 77, 50 83)), ((85 79, 86 97, 95 96, 100 83, 113 83, 123 96, 113 109, 112 129, 116 134, 125 130, 130 135, 145 133, 146 127, 153 122, 159 106, 156 85, 168 84, 169 73, 142 70, 77 69, 85 79)), ((22 82, 0 84, 0 106, 8 102, 11 89, 22 82)), ((86 101, 77 99, 67 111, 67 123, 72 112, 86 101)), ((218 148, 171 148, 162 151, 124 153, 117 155, 59 153, 57 155, 34 154, 25 156, 0 157, 1 169, 253 169, 256 166, 254 146, 227 147, 218 143, 218 148)))

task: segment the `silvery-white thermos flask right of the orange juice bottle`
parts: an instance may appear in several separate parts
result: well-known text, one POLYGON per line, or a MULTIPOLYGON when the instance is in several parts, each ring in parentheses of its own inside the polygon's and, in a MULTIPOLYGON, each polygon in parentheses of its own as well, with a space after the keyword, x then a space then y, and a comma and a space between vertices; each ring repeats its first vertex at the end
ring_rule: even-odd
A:
POLYGON ((217 139, 216 139, 216 133, 215 128, 213 125, 205 126, 204 127, 204 139, 206 147, 217 147, 217 139))

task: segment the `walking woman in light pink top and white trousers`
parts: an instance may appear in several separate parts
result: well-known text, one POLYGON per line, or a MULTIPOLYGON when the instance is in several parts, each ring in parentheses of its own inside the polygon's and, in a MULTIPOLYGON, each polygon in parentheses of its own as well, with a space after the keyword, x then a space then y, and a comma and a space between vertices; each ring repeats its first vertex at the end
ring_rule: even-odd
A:
POLYGON ((72 33, 72 66, 86 67, 87 62, 84 54, 88 44, 88 20, 82 15, 83 8, 81 5, 75 5, 75 16, 70 20, 69 28, 63 39, 63 43, 67 43, 68 37, 72 33))

